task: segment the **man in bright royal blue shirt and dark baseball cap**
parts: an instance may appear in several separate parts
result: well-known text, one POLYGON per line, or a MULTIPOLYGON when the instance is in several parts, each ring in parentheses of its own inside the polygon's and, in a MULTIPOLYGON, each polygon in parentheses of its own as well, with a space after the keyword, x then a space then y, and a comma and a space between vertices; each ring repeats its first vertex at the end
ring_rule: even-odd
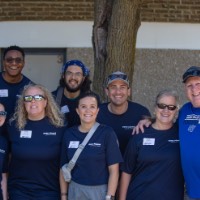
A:
POLYGON ((200 67, 188 68, 183 83, 189 102, 179 113, 181 160, 188 200, 197 200, 200 199, 200 67))

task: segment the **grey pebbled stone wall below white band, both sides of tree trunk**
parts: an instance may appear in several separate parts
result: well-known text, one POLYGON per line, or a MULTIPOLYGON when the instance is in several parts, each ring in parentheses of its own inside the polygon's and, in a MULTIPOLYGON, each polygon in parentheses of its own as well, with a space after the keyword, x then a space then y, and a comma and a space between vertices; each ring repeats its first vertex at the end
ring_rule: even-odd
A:
MULTIPOLYGON (((77 58, 91 69, 93 76, 92 49, 68 49, 67 59, 77 58)), ((179 94, 182 105, 187 101, 182 74, 192 65, 200 66, 200 50, 137 49, 132 85, 133 101, 147 106, 153 113, 154 100, 158 92, 173 89, 179 94)))

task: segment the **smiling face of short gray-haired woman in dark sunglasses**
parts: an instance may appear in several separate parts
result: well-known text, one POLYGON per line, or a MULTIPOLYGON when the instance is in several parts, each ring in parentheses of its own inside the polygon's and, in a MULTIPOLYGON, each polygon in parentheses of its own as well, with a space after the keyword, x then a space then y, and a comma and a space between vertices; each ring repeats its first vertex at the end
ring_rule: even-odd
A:
POLYGON ((155 117, 156 117, 156 124, 159 127, 164 126, 171 126, 173 124, 173 120, 177 114, 178 108, 177 108, 177 102, 175 97, 173 96, 162 96, 159 101, 157 102, 159 105, 165 105, 165 106, 158 106, 155 107, 155 117), (167 105, 167 106, 166 106, 167 105), (175 108, 174 110, 171 110, 169 108, 175 108))

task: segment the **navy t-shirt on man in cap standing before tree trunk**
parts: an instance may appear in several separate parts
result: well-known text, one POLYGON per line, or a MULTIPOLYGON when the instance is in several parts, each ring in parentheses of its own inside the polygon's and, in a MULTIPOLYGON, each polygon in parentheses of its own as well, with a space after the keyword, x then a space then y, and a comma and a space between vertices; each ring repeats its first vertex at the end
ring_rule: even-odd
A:
POLYGON ((116 115, 108 110, 108 104, 100 105, 97 121, 101 124, 111 126, 119 140, 119 148, 122 155, 132 135, 133 128, 144 116, 150 116, 150 112, 144 106, 128 101, 128 109, 121 115, 116 115))

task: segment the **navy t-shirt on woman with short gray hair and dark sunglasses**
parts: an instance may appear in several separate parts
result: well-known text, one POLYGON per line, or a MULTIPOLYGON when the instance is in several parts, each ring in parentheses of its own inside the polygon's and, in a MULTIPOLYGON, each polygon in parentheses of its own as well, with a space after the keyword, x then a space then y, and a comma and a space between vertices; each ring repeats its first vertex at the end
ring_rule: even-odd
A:
POLYGON ((176 126, 134 135, 121 170, 131 174, 127 200, 183 200, 184 181, 176 126))

